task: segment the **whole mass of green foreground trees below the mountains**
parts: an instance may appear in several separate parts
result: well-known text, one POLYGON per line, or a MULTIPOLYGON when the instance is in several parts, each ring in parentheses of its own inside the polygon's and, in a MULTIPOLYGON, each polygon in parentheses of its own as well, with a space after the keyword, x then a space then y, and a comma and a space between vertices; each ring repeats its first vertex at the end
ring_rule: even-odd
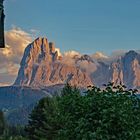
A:
POLYGON ((26 128, 30 140, 139 140, 140 100, 135 90, 109 83, 85 95, 66 85, 61 96, 46 97, 26 128))

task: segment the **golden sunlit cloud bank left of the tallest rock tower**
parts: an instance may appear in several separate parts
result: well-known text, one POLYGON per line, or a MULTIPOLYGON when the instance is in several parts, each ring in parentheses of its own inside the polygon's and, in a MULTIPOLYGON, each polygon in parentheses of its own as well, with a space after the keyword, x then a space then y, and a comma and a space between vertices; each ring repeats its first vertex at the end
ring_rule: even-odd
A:
POLYGON ((6 48, 0 49, 0 85, 14 82, 24 49, 32 42, 32 34, 14 26, 5 32, 5 42, 6 48))

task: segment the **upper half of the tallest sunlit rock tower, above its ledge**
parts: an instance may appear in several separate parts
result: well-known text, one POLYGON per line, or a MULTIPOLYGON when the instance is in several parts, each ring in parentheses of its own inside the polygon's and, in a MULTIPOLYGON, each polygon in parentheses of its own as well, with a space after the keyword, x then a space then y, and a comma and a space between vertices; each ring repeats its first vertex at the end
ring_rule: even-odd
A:
POLYGON ((58 53, 54 43, 49 43, 45 37, 38 37, 26 47, 21 64, 29 61, 32 63, 40 63, 42 60, 54 61, 57 57, 58 53))

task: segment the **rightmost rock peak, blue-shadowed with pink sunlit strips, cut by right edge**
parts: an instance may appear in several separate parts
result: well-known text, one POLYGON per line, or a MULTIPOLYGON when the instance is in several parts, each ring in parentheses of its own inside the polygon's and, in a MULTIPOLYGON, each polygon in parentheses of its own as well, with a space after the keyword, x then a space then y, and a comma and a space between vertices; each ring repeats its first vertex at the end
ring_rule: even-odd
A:
POLYGON ((140 89, 140 54, 129 51, 110 65, 111 82, 140 89))

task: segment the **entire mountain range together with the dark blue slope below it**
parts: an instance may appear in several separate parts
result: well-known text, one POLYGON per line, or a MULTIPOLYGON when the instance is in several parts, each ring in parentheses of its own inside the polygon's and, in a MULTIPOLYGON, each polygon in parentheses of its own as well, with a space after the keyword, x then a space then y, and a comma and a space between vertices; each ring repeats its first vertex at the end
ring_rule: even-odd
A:
POLYGON ((26 47, 14 84, 0 88, 0 109, 10 123, 26 124, 32 106, 40 98, 59 92, 67 82, 81 89, 123 83, 140 91, 140 54, 131 50, 113 59, 101 53, 61 55, 54 43, 37 38, 26 47), (21 108, 24 119, 17 113, 21 108))

